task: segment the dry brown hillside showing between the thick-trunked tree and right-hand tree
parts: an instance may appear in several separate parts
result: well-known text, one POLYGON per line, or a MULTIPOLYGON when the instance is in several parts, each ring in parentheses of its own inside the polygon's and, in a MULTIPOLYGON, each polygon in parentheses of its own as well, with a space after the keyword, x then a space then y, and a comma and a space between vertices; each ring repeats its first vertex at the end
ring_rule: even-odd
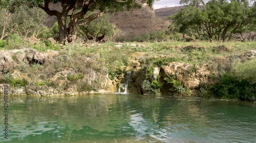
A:
POLYGON ((166 30, 169 25, 169 22, 157 17, 154 11, 147 7, 112 15, 111 22, 123 32, 123 36, 127 39, 153 31, 166 30))

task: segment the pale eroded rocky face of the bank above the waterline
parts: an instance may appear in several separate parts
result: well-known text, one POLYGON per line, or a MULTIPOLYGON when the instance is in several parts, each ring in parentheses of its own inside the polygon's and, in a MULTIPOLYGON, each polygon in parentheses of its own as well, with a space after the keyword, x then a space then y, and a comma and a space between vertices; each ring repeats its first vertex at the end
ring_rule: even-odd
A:
MULTIPOLYGON (((143 47, 143 45, 130 46, 143 47)), ((118 47, 118 44, 116 47, 118 47)), ((253 59, 255 56, 256 51, 251 50, 236 57, 237 61, 245 62, 253 59)), ((45 63, 56 61, 59 57, 60 55, 57 51, 38 52, 30 48, 0 51, 0 93, 4 93, 4 85, 9 86, 8 92, 13 95, 44 96, 115 93, 118 90, 119 84, 125 79, 127 71, 132 72, 131 80, 128 83, 129 93, 152 94, 154 92, 145 90, 142 87, 145 80, 153 82, 157 79, 156 81, 162 84, 159 92, 161 94, 172 94, 173 91, 169 89, 172 89, 174 84, 168 84, 167 77, 171 77, 173 82, 178 81, 177 83, 181 84, 179 86, 193 93, 204 85, 218 82, 220 76, 218 67, 223 65, 223 61, 225 61, 227 63, 225 66, 228 69, 232 64, 231 59, 233 59, 233 57, 227 56, 213 58, 211 63, 203 63, 202 65, 169 62, 156 66, 154 64, 145 64, 145 61, 148 59, 147 52, 134 52, 129 59, 129 66, 124 67, 125 70, 122 73, 118 73, 118 76, 112 80, 109 78, 108 72, 102 70, 105 67, 99 69, 101 72, 93 68, 87 68, 85 69, 86 72, 81 73, 78 72, 79 70, 70 68, 67 65, 66 68, 58 69, 58 72, 52 75, 49 74, 48 80, 44 82, 39 77, 30 78, 30 73, 20 68, 20 66, 24 65, 33 67, 33 65, 37 64, 46 69, 46 66, 49 66, 49 64, 45 63), (149 68, 152 68, 152 73, 148 73, 149 68), (23 81, 24 83, 22 83, 23 81), (30 84, 32 82, 35 84, 30 84)), ((65 56, 61 55, 61 58, 65 59, 65 56)), ((161 59, 162 57, 159 56, 157 58, 161 59)), ((90 62, 96 62, 97 64, 97 61, 93 61, 91 58, 87 58, 83 62, 89 64, 90 62)), ((105 70, 107 71, 108 69, 105 70)), ((38 73, 39 75, 40 73, 38 73)))

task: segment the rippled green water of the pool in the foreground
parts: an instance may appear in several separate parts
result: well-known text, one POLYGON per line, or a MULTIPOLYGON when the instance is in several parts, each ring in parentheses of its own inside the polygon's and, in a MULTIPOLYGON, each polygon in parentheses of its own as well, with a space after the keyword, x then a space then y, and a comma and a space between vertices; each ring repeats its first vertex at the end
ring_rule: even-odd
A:
MULTIPOLYGON (((3 100, 0 111, 3 113, 3 100)), ((0 142, 256 142, 256 103, 141 95, 13 97, 0 142)))

